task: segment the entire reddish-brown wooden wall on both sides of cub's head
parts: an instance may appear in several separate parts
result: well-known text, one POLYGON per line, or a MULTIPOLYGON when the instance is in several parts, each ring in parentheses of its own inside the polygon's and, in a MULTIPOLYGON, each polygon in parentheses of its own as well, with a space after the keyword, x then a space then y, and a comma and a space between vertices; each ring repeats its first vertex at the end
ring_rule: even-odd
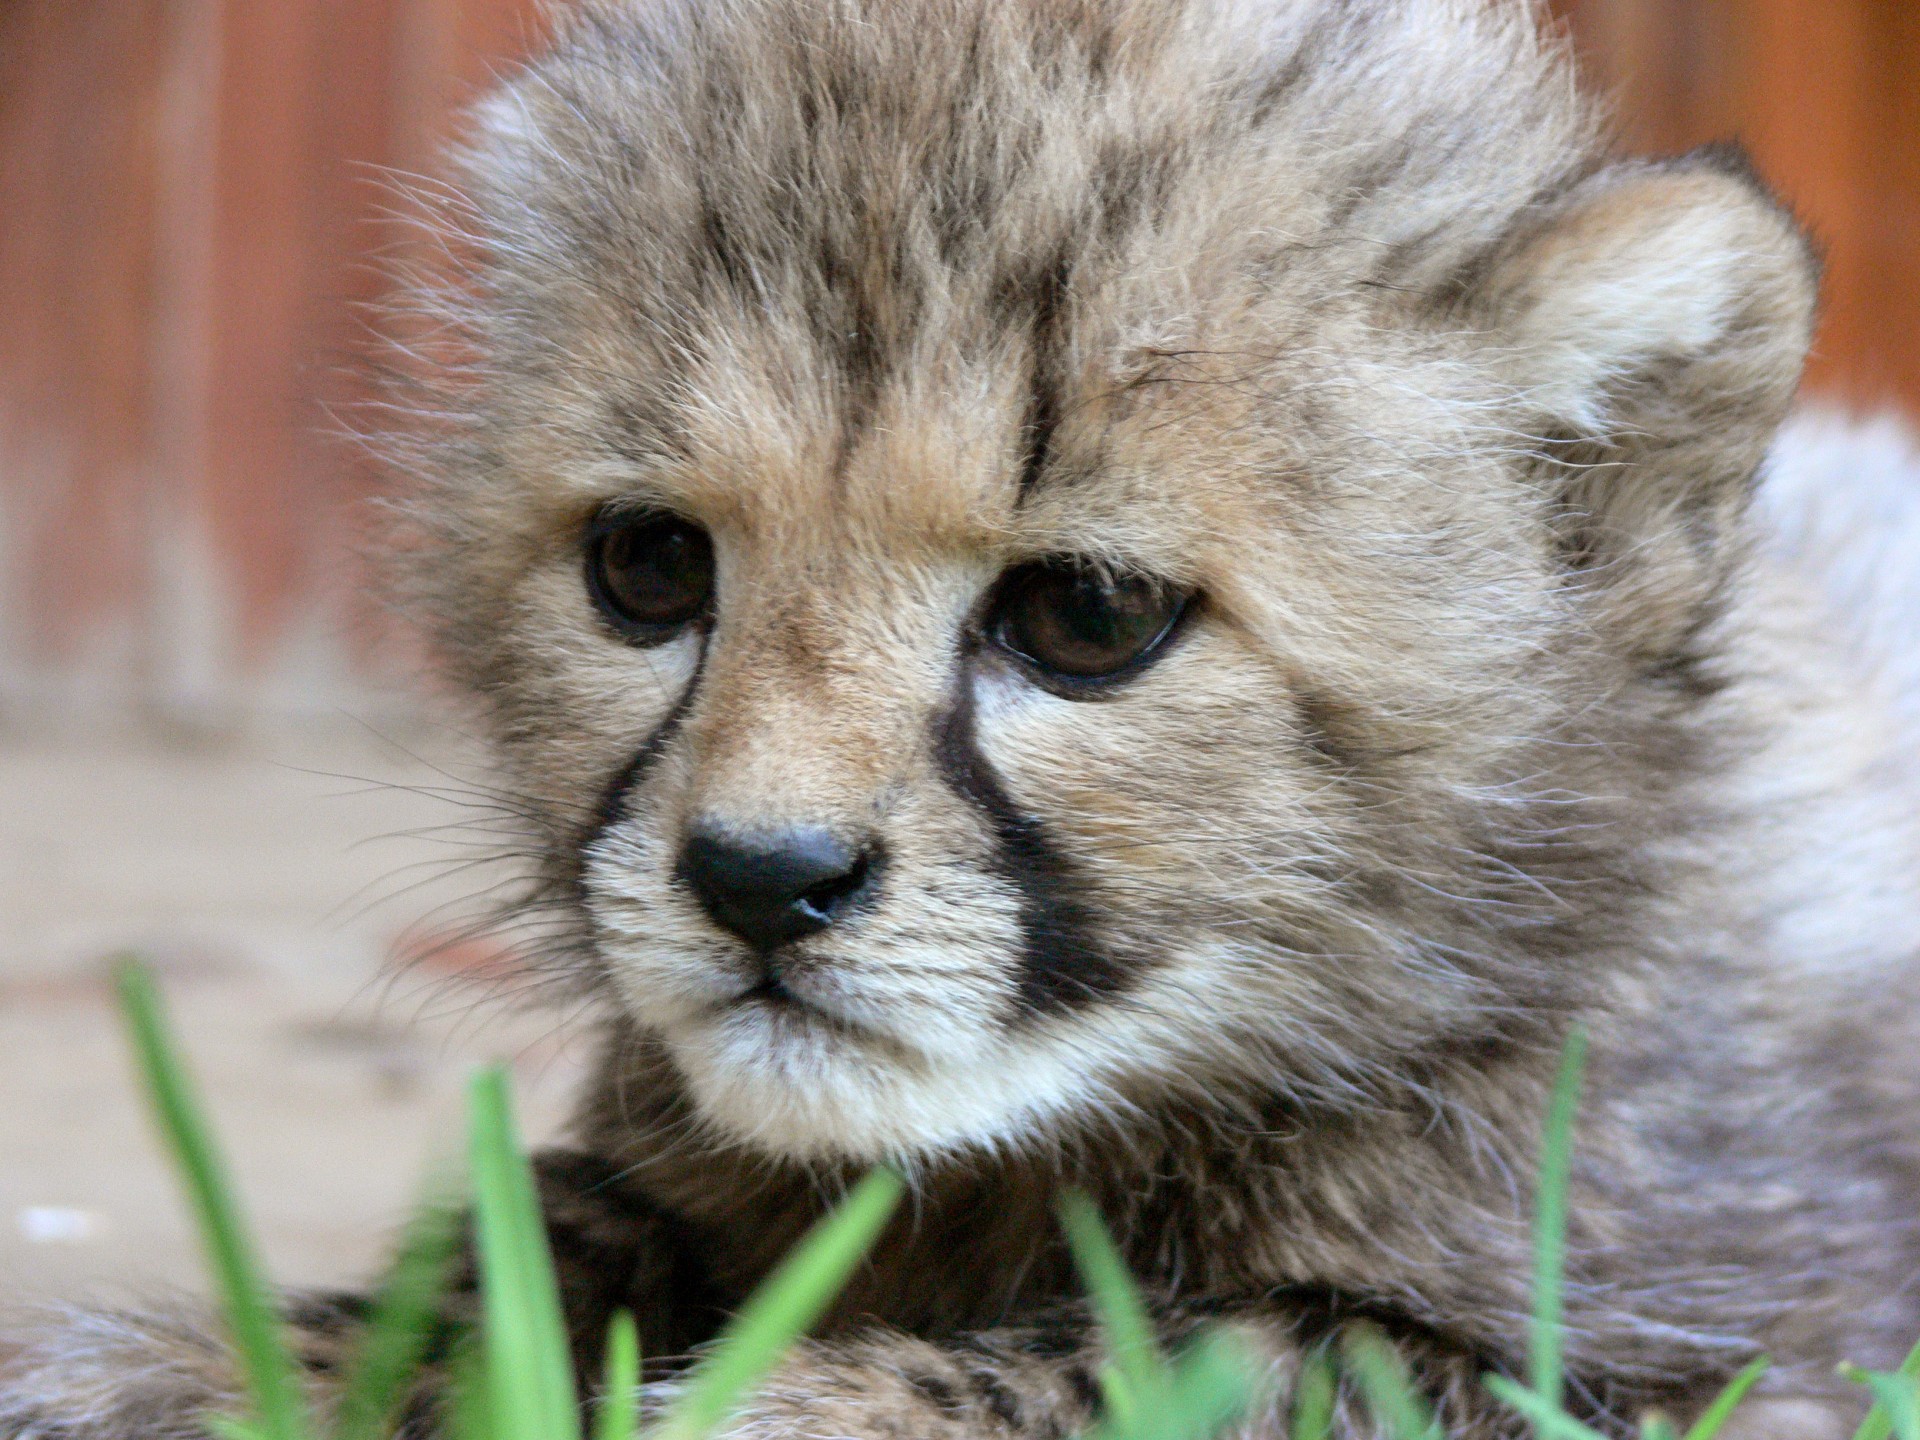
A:
MULTIPOLYGON (((1920 0, 1557 8, 1632 146, 1743 138, 1812 225, 1814 382, 1920 409, 1920 0)), ((396 242, 374 167, 430 167, 532 12, 0 0, 0 701, 351 687, 367 476, 326 409, 396 242)))

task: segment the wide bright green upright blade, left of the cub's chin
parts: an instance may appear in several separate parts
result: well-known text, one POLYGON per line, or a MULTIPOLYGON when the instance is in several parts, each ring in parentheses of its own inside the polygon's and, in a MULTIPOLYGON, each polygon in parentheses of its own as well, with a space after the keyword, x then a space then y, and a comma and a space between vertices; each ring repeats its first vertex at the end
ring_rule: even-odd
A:
POLYGON ((472 1081, 474 1229, 488 1405, 503 1440, 580 1440, 580 1398, 534 1171, 503 1069, 472 1081))

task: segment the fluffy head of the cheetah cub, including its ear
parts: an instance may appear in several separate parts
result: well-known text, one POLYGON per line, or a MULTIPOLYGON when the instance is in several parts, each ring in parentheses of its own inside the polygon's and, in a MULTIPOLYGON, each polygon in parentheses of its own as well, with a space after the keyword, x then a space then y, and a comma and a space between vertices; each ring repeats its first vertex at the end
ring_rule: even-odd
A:
POLYGON ((599 4, 484 119, 422 574, 703 1123, 1365 1104, 1624 943, 1811 280, 1526 8, 599 4))

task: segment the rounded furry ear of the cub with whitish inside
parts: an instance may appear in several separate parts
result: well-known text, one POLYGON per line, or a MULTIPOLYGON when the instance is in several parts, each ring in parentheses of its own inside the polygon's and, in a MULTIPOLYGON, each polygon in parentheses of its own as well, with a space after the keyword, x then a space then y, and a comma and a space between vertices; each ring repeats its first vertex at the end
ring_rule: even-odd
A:
POLYGON ((1509 240, 1482 286, 1498 365, 1555 459, 1563 545, 1617 637, 1672 660, 1740 559, 1799 382, 1805 236, 1738 152, 1622 163, 1509 240))

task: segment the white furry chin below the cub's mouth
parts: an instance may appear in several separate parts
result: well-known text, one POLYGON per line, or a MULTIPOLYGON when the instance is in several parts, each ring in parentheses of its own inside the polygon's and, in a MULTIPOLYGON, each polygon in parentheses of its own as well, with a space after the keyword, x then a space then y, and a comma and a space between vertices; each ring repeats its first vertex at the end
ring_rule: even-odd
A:
POLYGON ((931 1058, 793 1000, 749 998, 660 1037, 708 1125, 801 1164, 916 1169, 1010 1150, 1092 1102, 1089 1075, 1050 1046, 931 1058))

